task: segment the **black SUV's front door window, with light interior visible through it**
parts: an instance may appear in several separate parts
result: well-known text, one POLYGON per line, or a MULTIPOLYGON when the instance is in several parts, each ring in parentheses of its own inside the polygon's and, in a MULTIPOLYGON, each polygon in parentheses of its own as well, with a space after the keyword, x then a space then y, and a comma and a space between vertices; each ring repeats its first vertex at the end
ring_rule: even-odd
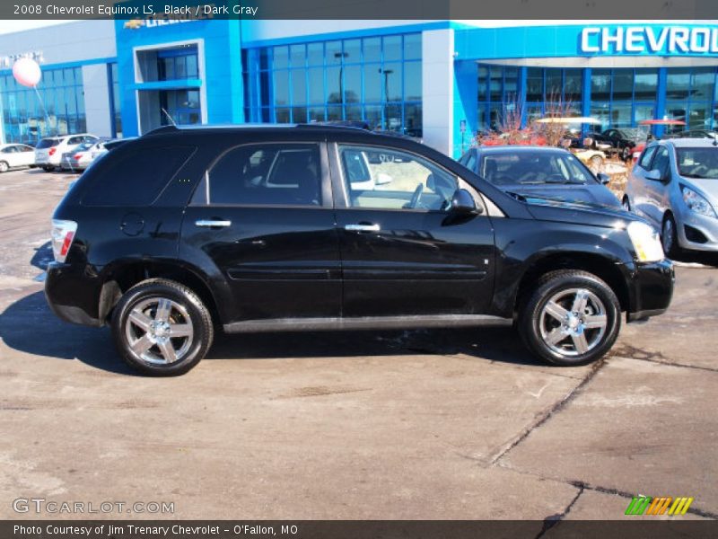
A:
POLYGON ((339 146, 352 208, 423 209, 451 206, 459 181, 438 165, 408 152, 378 146, 339 146))

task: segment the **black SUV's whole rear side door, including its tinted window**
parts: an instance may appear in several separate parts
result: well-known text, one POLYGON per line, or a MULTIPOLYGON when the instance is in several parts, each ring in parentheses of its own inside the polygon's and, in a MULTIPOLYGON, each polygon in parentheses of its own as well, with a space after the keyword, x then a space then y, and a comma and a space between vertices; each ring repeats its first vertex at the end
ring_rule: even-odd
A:
POLYGON ((341 314, 338 236, 320 147, 238 146, 197 188, 180 258, 204 261, 228 287, 224 323, 341 314))

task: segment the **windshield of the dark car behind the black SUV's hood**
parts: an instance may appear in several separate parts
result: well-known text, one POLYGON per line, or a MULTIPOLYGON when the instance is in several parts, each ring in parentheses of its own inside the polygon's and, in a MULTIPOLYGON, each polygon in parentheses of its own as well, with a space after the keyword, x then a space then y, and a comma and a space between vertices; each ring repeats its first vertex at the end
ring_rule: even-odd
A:
POLYGON ((484 155, 479 175, 495 185, 595 183, 574 155, 561 151, 484 155))

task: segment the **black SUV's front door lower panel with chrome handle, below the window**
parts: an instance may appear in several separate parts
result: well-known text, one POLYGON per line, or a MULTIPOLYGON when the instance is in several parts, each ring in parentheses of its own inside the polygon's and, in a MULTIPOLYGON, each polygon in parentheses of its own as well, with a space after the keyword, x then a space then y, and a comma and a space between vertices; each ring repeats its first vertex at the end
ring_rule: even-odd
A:
POLYGON ((486 216, 337 209, 344 315, 482 314, 493 291, 494 231, 486 216), (378 230, 346 230, 347 225, 378 230))

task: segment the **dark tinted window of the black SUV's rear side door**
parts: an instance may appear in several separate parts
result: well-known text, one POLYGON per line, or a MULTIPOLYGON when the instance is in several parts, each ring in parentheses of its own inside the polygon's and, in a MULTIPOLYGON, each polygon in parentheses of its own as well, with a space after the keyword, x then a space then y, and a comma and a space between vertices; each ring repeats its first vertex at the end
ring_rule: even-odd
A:
POLYGON ((319 146, 248 145, 208 172, 210 205, 320 206, 319 146))

